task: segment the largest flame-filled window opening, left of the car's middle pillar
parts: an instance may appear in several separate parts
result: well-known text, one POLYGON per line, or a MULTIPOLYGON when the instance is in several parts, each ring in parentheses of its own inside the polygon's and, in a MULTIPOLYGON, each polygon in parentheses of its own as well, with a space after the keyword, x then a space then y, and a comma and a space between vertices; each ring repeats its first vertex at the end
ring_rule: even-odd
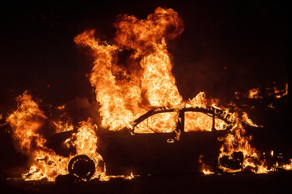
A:
POLYGON ((152 115, 134 128, 135 133, 167 133, 176 129, 178 113, 163 112, 152 115))

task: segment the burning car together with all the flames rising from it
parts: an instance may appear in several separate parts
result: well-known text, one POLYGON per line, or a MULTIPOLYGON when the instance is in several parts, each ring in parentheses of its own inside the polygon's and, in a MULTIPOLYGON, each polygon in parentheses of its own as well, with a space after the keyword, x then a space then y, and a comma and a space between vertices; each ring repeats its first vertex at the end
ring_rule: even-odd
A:
MULTIPOLYGON (((158 7, 144 20, 125 14, 115 27, 112 43, 95 38, 94 30, 74 38, 78 47, 89 47, 96 58, 89 81, 100 106, 101 128, 96 130, 92 117, 79 126, 66 116, 64 121, 59 120, 61 115, 46 116, 27 92, 17 97, 18 108, 7 122, 22 152, 34 160, 23 175, 26 180, 55 181, 68 172, 89 180, 98 176, 97 171, 106 175, 237 172, 248 166, 267 173, 264 162, 253 163, 259 157, 245 125, 258 125, 245 112, 234 105, 219 108, 219 100, 206 99, 204 92, 189 100, 180 95, 166 44, 184 30, 173 9, 158 7)), ((55 109, 66 115, 65 105, 55 109)))

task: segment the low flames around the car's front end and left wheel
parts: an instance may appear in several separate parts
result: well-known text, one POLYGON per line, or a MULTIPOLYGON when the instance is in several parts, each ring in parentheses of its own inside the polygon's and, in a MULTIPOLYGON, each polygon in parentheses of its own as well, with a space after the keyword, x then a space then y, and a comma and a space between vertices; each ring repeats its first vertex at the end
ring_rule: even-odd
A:
MULTIPOLYGON (((96 152, 98 137, 95 132, 97 126, 92 124, 91 119, 80 122, 78 132, 73 133, 72 137, 64 142, 67 146, 74 146, 76 153, 69 157, 59 156, 54 150, 43 146, 46 139, 40 133, 48 118, 44 116, 44 112, 39 109, 38 104, 32 100, 32 96, 24 92, 16 100, 18 101, 18 109, 10 114, 6 121, 12 126, 13 137, 19 143, 20 151, 32 161, 29 172, 23 174, 25 180, 47 179, 54 181, 58 175, 68 174, 68 162, 77 155, 85 154, 96 164, 103 160, 96 152)), ((56 130, 58 132, 58 126, 56 130)), ((129 176, 106 176, 106 171, 96 165, 92 179, 98 177, 103 181, 114 177, 134 178, 132 174, 129 176)))

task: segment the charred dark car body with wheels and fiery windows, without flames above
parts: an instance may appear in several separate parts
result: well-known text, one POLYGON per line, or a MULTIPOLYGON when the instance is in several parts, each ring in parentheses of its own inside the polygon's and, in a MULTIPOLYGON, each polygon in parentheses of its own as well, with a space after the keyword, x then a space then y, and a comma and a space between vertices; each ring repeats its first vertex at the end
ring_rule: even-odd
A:
MULTIPOLYGON (((220 109, 158 107, 134 120, 120 131, 97 132, 96 152, 106 166, 106 175, 147 175, 162 173, 194 173, 218 168, 218 156, 223 138, 230 132, 231 123, 220 109), (199 160, 200 158, 200 160, 199 160)), ((73 131, 61 132, 48 139, 44 146, 68 156, 64 141, 73 131)), ((219 164, 239 170, 243 165, 242 152, 221 157, 219 164)), ((90 179, 95 171, 88 156, 70 160, 68 172, 79 179, 90 179)))

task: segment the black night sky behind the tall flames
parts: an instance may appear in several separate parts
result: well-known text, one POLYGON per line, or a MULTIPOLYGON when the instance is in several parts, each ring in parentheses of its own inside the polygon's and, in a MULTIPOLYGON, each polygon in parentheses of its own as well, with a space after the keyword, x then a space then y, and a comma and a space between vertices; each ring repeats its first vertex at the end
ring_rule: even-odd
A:
POLYGON ((94 58, 74 37, 96 29, 111 42, 116 15, 145 19, 161 6, 182 18, 184 32, 167 47, 183 99, 206 92, 228 102, 235 91, 288 82, 290 7, 279 1, 11 1, 1 6, 0 111, 16 108, 28 90, 55 106, 76 97, 95 100, 89 74, 94 58))

